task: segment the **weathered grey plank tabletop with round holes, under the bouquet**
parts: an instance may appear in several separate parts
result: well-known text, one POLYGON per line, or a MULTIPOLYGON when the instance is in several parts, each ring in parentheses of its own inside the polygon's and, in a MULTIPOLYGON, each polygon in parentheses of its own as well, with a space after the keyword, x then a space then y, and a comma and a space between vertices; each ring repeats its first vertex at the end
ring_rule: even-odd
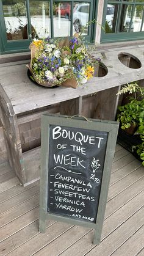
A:
POLYGON ((102 62, 108 68, 106 76, 92 78, 84 86, 77 89, 56 87, 45 88, 35 85, 27 77, 26 60, 24 63, 13 62, 10 64, 0 64, 0 87, 5 90, 12 102, 15 114, 31 111, 34 109, 49 106, 79 96, 88 95, 111 87, 120 86, 126 82, 144 79, 144 46, 133 46, 123 48, 123 53, 129 53, 137 57, 142 63, 140 68, 129 68, 121 64, 118 54, 121 49, 99 53, 102 62))

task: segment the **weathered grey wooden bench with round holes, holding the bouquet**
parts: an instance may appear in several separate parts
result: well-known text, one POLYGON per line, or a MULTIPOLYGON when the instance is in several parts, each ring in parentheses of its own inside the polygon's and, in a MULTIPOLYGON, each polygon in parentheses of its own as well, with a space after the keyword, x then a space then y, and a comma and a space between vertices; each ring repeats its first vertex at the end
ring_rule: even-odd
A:
POLYGON ((49 89, 35 85, 27 77, 26 64, 29 60, 11 59, 0 64, 1 125, 10 166, 24 186, 39 179, 41 115, 45 112, 81 114, 95 119, 115 120, 118 105, 116 93, 120 86, 144 79, 143 53, 143 45, 125 46, 122 51, 121 48, 103 48, 98 56, 107 67, 107 75, 106 70, 100 68, 100 77, 90 79, 77 89, 49 89), (124 53, 128 53, 129 57, 124 57, 124 53), (130 68, 121 64, 118 55, 130 68))

